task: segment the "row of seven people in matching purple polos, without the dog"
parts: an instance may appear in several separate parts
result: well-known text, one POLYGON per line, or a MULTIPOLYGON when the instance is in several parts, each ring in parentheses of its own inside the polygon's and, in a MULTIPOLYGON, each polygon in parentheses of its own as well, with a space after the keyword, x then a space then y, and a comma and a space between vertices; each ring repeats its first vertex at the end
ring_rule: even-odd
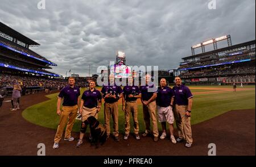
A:
MULTIPOLYGON (((152 134, 154 141, 158 141, 158 122, 156 110, 158 111, 158 120, 162 125, 162 135, 160 139, 167 137, 166 122, 169 124, 170 140, 172 143, 186 141, 185 147, 191 147, 193 143, 191 131, 191 108, 193 95, 187 86, 182 85, 181 78, 176 77, 176 85, 171 89, 167 86, 166 79, 160 80, 160 86, 150 85, 151 76, 145 77, 146 84, 144 86, 135 86, 133 77, 128 78, 128 85, 121 86, 115 84, 114 74, 109 76, 109 84, 104 85, 101 91, 96 90, 96 82, 89 83, 89 89, 85 90, 79 104, 80 89, 75 86, 75 78, 69 77, 68 86, 61 89, 57 100, 57 114, 60 115, 59 126, 54 139, 53 149, 59 148, 59 141, 65 130, 64 140, 73 141, 71 136, 73 124, 75 122, 77 111, 82 115, 82 123, 80 129, 79 140, 76 144, 80 147, 83 143, 86 127, 88 126, 87 118, 94 116, 98 118, 98 112, 101 110, 101 99, 104 103, 104 116, 107 139, 110 137, 110 119, 113 119, 113 137, 115 141, 119 141, 118 132, 118 100, 122 98, 122 110, 125 113, 125 135, 127 140, 130 135, 130 118, 133 117, 133 128, 135 139, 140 140, 139 123, 138 123, 138 105, 137 99, 141 99, 143 105, 143 119, 145 124, 145 132, 143 137, 152 134), (148 91, 149 89, 155 91, 148 91), (60 110, 61 101, 63 100, 63 108, 60 110), (178 137, 174 137, 174 120, 176 120, 178 137), (152 122, 152 132, 150 123, 152 122)), ((91 136, 89 137, 91 138, 91 136)))

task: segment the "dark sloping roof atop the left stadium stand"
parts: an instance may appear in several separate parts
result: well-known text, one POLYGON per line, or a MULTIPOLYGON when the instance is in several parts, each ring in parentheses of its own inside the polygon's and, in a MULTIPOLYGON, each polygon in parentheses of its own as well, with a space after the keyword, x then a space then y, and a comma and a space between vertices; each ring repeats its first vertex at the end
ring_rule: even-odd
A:
POLYGON ((13 28, 6 26, 6 24, 3 24, 2 22, 0 22, 0 31, 5 33, 6 35, 14 37, 19 41, 22 41, 25 44, 32 45, 32 46, 40 45, 39 43, 36 43, 34 40, 31 40, 30 38, 20 34, 18 31, 13 30, 13 28))

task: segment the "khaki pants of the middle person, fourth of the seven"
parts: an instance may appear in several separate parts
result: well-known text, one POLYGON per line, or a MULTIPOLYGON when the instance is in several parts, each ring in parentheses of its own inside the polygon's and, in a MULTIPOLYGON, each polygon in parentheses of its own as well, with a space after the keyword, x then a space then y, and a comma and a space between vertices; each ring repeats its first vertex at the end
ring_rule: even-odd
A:
POLYGON ((130 117, 133 116, 133 127, 134 134, 139 133, 139 122, 138 122, 138 107, 135 102, 126 102, 125 103, 125 134, 129 135, 130 133, 130 117))

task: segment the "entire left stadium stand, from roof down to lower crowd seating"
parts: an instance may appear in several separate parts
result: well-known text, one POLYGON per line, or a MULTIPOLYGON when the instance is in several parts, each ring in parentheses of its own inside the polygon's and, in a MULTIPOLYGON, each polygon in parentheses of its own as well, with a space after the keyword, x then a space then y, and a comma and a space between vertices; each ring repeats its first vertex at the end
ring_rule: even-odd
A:
MULTIPOLYGON (((40 44, 0 22, 0 80, 9 95, 18 82, 22 94, 43 90, 59 90, 67 85, 67 78, 48 72, 57 64, 30 49, 40 44)), ((76 85, 86 86, 86 80, 77 78, 76 85)))

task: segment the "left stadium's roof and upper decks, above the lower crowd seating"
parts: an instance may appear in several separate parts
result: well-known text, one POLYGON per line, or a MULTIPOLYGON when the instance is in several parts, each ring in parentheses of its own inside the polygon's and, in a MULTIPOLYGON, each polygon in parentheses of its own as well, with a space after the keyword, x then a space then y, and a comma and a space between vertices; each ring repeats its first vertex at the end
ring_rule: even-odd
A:
POLYGON ((30 50, 40 44, 0 22, 0 71, 25 72, 52 77, 58 74, 47 72, 55 63, 30 50))

